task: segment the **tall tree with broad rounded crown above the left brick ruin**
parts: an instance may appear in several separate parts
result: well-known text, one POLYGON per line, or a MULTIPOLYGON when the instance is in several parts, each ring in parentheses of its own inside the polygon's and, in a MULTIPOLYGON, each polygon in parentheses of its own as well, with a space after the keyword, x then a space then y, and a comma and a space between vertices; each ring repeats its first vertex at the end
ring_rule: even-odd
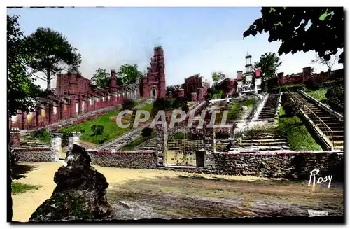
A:
POLYGON ((81 55, 67 41, 66 36, 50 28, 38 28, 36 32, 27 37, 30 47, 30 67, 35 73, 45 74, 45 78, 38 77, 47 82, 47 89, 51 89, 52 75, 61 74, 63 71, 78 73, 81 63, 81 55))

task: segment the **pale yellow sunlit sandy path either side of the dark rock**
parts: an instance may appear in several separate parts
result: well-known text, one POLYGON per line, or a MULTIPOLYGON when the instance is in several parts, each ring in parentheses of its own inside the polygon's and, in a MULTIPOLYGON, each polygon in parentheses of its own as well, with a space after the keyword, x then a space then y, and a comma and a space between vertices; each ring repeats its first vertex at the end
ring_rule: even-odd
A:
MULTIPOLYGON (((31 165, 35 168, 30 172, 27 172, 27 174, 25 174, 25 178, 15 180, 15 182, 41 186, 38 188, 38 190, 28 190, 25 193, 12 195, 13 221, 27 222, 36 208, 52 195, 52 191, 56 186, 55 182, 53 181, 53 176, 57 169, 62 166, 62 162, 28 162, 20 164, 31 165)), ((141 180, 163 176, 175 177, 187 174, 177 171, 165 171, 156 169, 118 169, 113 167, 94 167, 99 172, 104 174, 104 176, 106 176, 106 179, 109 182, 109 188, 107 189, 107 192, 109 190, 112 190, 113 186, 116 186, 117 184, 120 185, 121 183, 130 181, 131 179, 141 180)), ((201 174, 200 176, 212 177, 208 174, 201 174)), ((261 178, 252 176, 214 176, 233 180, 261 180, 261 178)))

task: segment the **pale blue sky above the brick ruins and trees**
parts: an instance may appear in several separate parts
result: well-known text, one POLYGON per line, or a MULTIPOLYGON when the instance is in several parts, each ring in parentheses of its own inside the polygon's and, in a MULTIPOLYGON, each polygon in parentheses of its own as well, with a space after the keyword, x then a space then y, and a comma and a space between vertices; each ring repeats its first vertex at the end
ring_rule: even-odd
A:
MULTIPOLYGON (((20 15, 20 27, 29 35, 38 27, 50 27, 64 34, 82 55, 80 72, 91 78, 99 69, 118 69, 137 64, 145 72, 153 47, 165 53, 167 85, 182 84, 194 74, 211 81, 211 72, 221 71, 237 78, 244 71, 245 56, 252 62, 267 52, 278 53, 280 42, 267 41, 268 34, 243 39, 243 33, 260 8, 14 8, 8 15, 20 15)), ((311 64, 314 52, 281 55, 279 72, 292 74, 311 66, 316 72, 324 65, 311 64)), ((333 69, 342 68, 335 64, 333 69)), ((45 88, 46 83, 36 83, 45 88)), ((52 88, 56 85, 52 81, 52 88)))

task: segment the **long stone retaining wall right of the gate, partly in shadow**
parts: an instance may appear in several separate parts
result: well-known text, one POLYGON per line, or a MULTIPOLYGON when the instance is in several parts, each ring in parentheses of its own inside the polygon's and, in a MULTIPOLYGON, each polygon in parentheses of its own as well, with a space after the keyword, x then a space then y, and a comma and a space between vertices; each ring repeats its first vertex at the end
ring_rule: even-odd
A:
POLYGON ((312 170, 320 169, 320 176, 344 180, 342 153, 214 153, 213 159, 214 174, 309 179, 312 170))

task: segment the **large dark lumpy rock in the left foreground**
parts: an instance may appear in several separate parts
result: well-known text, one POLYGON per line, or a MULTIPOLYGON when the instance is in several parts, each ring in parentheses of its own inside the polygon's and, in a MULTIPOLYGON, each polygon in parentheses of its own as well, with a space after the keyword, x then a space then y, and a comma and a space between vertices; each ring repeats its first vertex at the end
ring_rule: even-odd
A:
POLYGON ((91 167, 85 148, 76 144, 67 153, 66 166, 55 173, 57 187, 31 215, 29 221, 62 221, 111 218, 113 209, 106 200, 109 183, 91 167))

